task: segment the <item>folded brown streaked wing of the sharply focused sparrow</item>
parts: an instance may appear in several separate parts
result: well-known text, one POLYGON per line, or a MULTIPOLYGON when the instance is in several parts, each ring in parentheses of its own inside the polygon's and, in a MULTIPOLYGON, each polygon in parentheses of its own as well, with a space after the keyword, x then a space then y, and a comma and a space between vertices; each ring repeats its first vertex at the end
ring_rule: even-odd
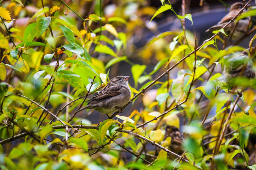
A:
POLYGON ((120 93, 122 93, 122 90, 124 90, 124 87, 122 87, 122 86, 119 86, 119 85, 107 85, 98 94, 93 96, 91 101, 93 101, 93 100, 101 100, 101 99, 105 99, 107 97, 112 97, 112 96, 119 95, 120 93))

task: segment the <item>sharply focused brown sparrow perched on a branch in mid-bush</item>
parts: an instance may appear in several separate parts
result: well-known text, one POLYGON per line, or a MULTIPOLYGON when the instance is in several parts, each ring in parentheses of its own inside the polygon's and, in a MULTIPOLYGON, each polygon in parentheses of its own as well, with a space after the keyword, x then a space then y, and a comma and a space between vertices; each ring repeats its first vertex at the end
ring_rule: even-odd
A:
POLYGON ((119 110, 131 98, 131 90, 128 85, 130 76, 116 76, 110 80, 99 93, 87 101, 88 104, 84 109, 95 109, 101 113, 109 114, 119 110))

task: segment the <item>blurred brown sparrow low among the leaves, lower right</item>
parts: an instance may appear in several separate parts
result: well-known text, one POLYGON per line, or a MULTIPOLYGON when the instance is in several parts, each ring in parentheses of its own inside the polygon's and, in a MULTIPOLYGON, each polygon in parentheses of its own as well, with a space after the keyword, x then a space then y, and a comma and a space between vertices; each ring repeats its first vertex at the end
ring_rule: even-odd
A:
POLYGON ((169 126, 167 125, 165 127, 165 137, 166 139, 168 136, 172 138, 171 145, 169 146, 171 151, 177 154, 183 153, 183 141, 184 141, 184 135, 183 133, 175 126, 169 126))

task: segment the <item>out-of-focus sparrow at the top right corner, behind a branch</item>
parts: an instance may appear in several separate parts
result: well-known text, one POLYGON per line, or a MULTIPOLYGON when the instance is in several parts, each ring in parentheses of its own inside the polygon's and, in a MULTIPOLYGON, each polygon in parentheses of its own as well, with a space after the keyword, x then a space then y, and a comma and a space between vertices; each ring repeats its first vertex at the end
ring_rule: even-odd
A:
MULTIPOLYGON (((223 26, 225 26, 230 21, 231 18, 235 17, 242 8, 243 8, 243 3, 242 2, 236 2, 236 3, 232 4, 230 6, 229 13, 225 17, 223 17, 218 22, 218 24, 216 24, 215 26, 210 27, 205 32, 215 31, 215 30, 221 29, 223 26)), ((244 9, 244 12, 246 12, 246 9, 244 9)), ((238 39, 241 35, 246 33, 247 26, 248 26, 249 22, 250 22, 250 17, 245 17, 243 19, 240 19, 238 21, 237 26, 236 26, 236 23, 231 22, 226 28, 224 28, 224 31, 227 35, 230 36, 234 27, 236 26, 236 29, 235 29, 235 31, 232 35, 232 39, 234 39, 234 40, 238 39)))

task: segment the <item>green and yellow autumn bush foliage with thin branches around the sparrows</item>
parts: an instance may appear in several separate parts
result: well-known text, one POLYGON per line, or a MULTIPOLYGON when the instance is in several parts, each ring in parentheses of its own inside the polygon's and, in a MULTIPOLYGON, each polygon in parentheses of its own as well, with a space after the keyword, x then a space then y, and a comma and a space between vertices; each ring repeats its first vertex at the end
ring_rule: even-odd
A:
MULTIPOLYGON (((221 29, 199 44, 184 22, 197 24, 192 14, 165 0, 0 4, 1 169, 256 169, 256 81, 221 71, 225 56, 255 57, 253 19, 238 40, 221 29), (157 31, 166 13, 181 29, 157 31), (137 47, 145 28, 155 36, 137 47), (81 108, 124 64, 133 107, 92 124, 97 114, 81 108)), ((229 24, 254 15, 250 7, 229 24)))

